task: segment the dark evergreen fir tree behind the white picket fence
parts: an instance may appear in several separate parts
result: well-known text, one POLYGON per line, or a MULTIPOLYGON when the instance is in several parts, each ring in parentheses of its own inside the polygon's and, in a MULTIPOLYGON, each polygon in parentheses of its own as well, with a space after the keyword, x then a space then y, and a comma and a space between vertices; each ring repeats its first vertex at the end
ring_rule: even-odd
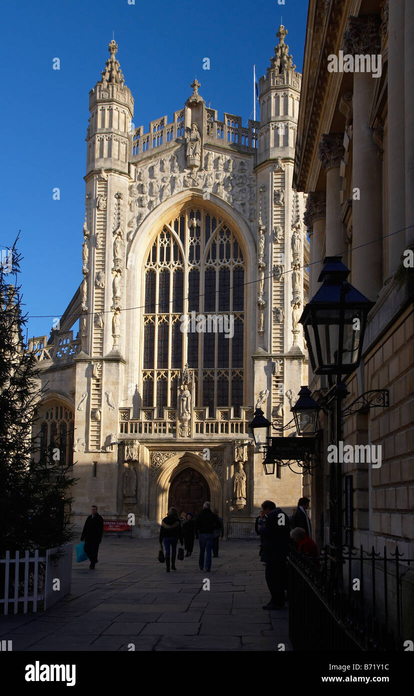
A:
POLYGON ((34 351, 27 350, 22 295, 17 285, 22 256, 17 237, 11 267, 0 267, 0 555, 6 551, 55 548, 71 541, 69 492, 74 479, 60 462, 60 441, 42 451, 36 406, 34 351), (13 283, 14 281, 14 283, 13 283), (32 432, 32 425, 33 432, 32 432))

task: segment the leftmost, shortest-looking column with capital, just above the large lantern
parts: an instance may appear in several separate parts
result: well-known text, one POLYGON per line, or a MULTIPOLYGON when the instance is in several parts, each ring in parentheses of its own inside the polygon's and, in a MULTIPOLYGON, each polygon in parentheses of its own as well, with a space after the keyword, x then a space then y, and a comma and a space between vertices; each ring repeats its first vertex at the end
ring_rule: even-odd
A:
POLYGON ((310 259, 312 265, 309 269, 309 299, 313 298, 318 287, 320 287, 317 278, 319 278, 323 266, 325 218, 326 193, 324 191, 309 193, 308 198, 306 198, 306 210, 304 214, 304 223, 312 239, 310 259))

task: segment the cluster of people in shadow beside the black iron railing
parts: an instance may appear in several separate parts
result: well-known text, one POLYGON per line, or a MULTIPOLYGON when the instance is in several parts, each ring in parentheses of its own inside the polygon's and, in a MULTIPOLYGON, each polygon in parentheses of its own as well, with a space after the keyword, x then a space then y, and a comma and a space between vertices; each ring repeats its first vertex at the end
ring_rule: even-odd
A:
POLYGON ((308 505, 308 498, 299 498, 289 519, 272 500, 262 503, 256 519, 256 534, 260 536, 260 559, 266 565, 265 579, 270 592, 270 602, 263 609, 283 609, 285 606, 285 590, 288 590, 286 557, 291 539, 299 551, 317 557, 317 546, 311 539, 311 521, 306 514, 308 505))

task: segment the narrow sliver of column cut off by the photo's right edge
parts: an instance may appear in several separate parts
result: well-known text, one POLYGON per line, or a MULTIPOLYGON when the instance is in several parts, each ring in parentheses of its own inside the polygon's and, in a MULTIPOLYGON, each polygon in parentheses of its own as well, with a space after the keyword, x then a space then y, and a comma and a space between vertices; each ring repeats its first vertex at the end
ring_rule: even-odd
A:
MULTIPOLYGON (((406 0, 405 26, 405 127, 406 127, 406 227, 414 225, 414 3, 406 0)), ((398 237, 398 235, 395 235, 398 237)), ((414 227, 406 230, 406 247, 414 244, 414 227)))

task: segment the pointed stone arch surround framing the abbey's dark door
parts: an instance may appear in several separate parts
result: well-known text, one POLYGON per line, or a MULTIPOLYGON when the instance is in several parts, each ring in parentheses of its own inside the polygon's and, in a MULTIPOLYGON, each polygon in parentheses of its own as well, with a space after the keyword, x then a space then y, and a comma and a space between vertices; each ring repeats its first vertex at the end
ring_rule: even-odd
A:
POLYGON ((211 507, 222 509, 222 483, 213 466, 208 461, 204 461, 198 454, 177 452, 160 466, 158 474, 154 477, 154 483, 151 485, 149 519, 156 520, 159 523, 167 515, 169 489, 174 479, 184 469, 188 468, 194 469, 206 480, 210 490, 210 498, 207 498, 207 500, 210 500, 211 507))

